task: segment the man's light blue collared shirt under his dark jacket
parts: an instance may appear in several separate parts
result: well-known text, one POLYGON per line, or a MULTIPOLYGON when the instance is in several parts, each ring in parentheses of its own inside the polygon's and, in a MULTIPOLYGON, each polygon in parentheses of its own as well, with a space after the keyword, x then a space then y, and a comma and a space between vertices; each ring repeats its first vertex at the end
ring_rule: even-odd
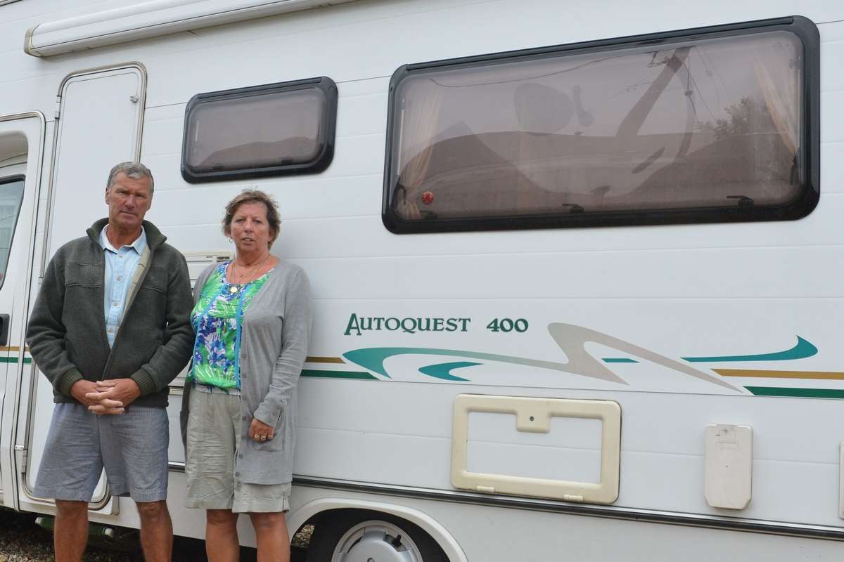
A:
POLYGON ((130 246, 115 249, 106 236, 106 224, 100 232, 100 246, 106 252, 106 276, 103 295, 105 296, 106 336, 108 345, 114 345, 114 336, 123 318, 129 284, 138 269, 143 250, 147 248, 147 233, 141 227, 141 235, 130 246))

